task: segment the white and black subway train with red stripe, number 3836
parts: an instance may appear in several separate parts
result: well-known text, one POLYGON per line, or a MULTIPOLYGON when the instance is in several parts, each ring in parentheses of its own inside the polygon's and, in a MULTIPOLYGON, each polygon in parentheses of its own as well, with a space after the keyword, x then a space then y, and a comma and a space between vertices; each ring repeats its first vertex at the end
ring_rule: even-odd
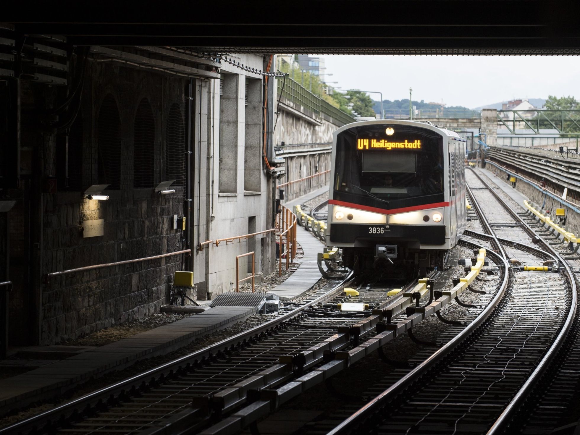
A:
POLYGON ((333 134, 329 247, 356 272, 443 266, 466 227, 466 141, 430 122, 374 119, 333 134))

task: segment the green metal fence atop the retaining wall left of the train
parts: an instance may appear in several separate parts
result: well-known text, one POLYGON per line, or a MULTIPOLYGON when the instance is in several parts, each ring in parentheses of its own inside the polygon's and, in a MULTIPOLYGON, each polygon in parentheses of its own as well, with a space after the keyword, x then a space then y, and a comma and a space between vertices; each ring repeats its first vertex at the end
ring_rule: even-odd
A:
POLYGON ((324 114, 336 121, 342 122, 343 124, 354 122, 354 118, 349 114, 332 106, 332 104, 321 99, 318 95, 313 94, 291 78, 286 77, 285 82, 284 79, 278 79, 277 82, 278 95, 282 95, 282 97, 288 99, 292 103, 302 106, 306 115, 313 118, 319 118, 321 114, 324 114), (284 90, 282 90, 282 84, 284 84, 284 90))

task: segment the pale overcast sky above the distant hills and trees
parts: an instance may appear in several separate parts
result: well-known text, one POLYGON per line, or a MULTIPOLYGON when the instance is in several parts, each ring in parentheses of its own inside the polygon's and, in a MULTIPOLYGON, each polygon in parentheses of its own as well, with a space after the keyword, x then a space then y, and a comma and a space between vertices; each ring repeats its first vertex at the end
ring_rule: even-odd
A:
MULTIPOLYGON (((580 99, 580 56, 324 55, 327 82, 378 90, 385 100, 409 97, 474 108, 514 98, 580 99)), ((371 94, 378 101, 378 94, 371 94)))

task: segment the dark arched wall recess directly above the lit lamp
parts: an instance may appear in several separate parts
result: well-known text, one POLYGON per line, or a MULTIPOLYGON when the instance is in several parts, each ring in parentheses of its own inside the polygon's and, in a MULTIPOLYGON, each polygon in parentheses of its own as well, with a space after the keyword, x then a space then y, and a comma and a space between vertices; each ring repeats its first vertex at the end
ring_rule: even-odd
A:
POLYGON ((113 95, 107 95, 97 120, 99 184, 121 189, 121 118, 113 95))

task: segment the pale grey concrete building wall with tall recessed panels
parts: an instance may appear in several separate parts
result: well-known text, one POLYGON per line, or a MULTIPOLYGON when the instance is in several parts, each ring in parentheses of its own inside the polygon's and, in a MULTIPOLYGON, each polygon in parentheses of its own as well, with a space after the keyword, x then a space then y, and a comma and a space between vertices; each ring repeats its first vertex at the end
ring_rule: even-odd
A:
MULTIPOLYGON (((231 55, 231 58, 250 68, 263 68, 262 56, 231 55)), ((226 89, 224 83, 220 97, 219 82, 208 84, 208 149, 201 155, 201 160, 208 162, 206 201, 202 202, 200 209, 201 215, 206 213, 208 226, 201 231, 205 238, 198 238, 200 241, 202 238, 216 241, 274 228, 273 183, 266 177, 262 159, 262 76, 230 64, 223 64, 222 74, 235 86, 226 89), (235 116, 231 106, 237 106, 235 116), (223 114, 226 118, 222 118, 223 114), (222 128, 224 121, 227 129, 222 128), (232 160, 237 162, 235 168, 232 160), (230 186, 228 191, 222 191, 225 179, 230 186)), ((203 252, 195 252, 198 298, 213 298, 235 289, 235 257, 249 251, 255 252, 256 273, 269 274, 274 270, 276 259, 272 233, 257 235, 250 240, 222 241, 218 246, 211 244, 203 252)), ((247 273, 248 260, 240 259, 240 278, 247 273)))

